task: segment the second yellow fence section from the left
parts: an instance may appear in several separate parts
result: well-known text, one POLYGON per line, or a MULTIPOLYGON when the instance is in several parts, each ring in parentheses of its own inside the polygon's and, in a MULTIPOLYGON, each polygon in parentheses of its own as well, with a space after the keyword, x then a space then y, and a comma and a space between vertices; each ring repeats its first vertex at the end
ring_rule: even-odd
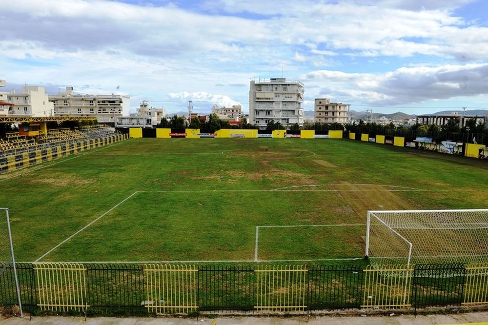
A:
POLYGON ((156 313, 187 314, 196 311, 197 276, 195 265, 146 264, 144 306, 156 313))

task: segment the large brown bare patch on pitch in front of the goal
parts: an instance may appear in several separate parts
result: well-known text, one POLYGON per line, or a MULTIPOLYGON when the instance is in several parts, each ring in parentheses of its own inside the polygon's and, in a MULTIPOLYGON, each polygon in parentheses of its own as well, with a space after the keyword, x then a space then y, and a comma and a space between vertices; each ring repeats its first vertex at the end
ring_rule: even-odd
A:
POLYGON ((362 220, 365 220, 367 210, 412 209, 408 202, 385 185, 342 183, 333 186, 362 220))

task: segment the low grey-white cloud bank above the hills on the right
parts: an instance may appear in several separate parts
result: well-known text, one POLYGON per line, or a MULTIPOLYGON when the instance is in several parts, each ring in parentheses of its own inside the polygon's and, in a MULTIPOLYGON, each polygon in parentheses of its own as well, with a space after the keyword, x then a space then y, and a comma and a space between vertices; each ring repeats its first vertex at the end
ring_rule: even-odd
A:
POLYGON ((344 102, 409 104, 486 96, 488 63, 403 67, 383 74, 320 70, 302 79, 322 85, 320 94, 337 94, 344 102))

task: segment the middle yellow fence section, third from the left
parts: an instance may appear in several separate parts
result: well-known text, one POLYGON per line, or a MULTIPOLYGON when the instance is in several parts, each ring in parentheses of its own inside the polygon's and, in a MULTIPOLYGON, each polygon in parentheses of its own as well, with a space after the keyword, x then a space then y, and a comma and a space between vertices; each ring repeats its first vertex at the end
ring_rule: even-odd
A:
POLYGON ((262 266, 256 270, 256 309, 305 311, 305 265, 262 266))

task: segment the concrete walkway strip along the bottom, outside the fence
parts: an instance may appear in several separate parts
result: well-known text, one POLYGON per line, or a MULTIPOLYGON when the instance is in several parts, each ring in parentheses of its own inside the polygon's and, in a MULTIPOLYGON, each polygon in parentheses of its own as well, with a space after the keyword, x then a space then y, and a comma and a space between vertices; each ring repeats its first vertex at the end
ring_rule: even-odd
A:
POLYGON ((203 318, 88 318, 85 322, 81 317, 29 317, 3 318, 0 317, 2 325, 61 325, 61 324, 83 324, 83 325, 430 325, 430 324, 484 324, 488 325, 488 312, 475 312, 466 314, 447 315, 395 315, 395 316, 320 316, 278 318, 278 317, 218 317, 216 319, 203 318), (213 323, 213 324, 212 324, 213 323))

